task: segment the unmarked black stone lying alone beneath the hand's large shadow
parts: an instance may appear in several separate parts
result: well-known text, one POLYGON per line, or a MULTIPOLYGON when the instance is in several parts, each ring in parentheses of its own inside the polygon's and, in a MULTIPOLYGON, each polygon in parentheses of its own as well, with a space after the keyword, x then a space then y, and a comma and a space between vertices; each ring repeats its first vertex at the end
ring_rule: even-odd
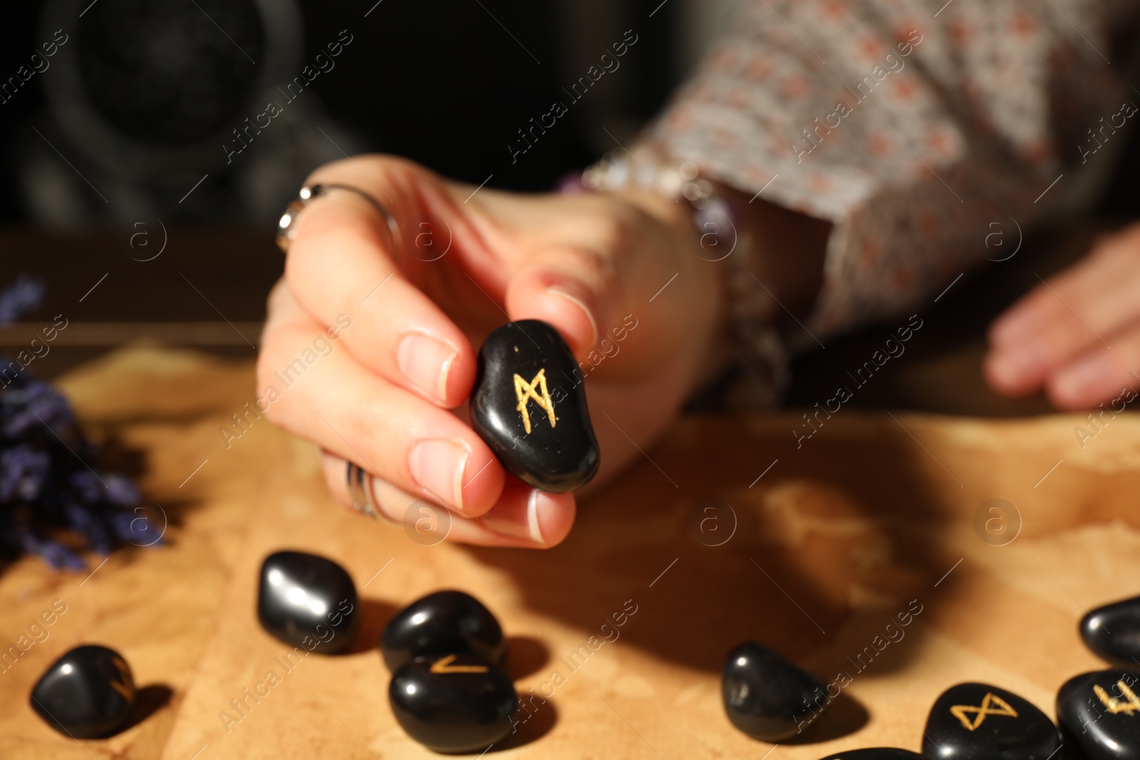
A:
POLYGON ((830 702, 823 681, 755 641, 728 653, 720 695, 732 725, 765 742, 799 734, 830 702))

